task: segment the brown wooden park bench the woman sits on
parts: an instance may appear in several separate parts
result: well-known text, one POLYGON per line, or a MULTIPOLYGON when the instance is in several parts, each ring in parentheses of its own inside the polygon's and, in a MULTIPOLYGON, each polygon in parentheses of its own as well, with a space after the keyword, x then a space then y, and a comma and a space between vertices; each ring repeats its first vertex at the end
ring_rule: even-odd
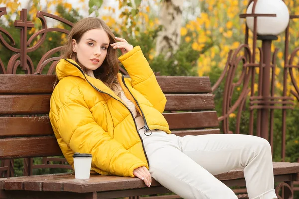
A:
MULTIPOLYGON (((53 75, 0 74, 0 159, 62 155, 46 115, 54 79, 53 75)), ((174 134, 220 133, 208 77, 157 79, 168 100, 164 116, 174 134)), ((284 182, 285 199, 292 197, 298 173, 299 163, 274 163, 275 181, 284 182)), ((245 186, 243 169, 216 177, 228 186, 245 186)), ((147 188, 138 178, 96 174, 89 180, 75 179, 73 173, 0 179, 1 199, 103 199, 166 192, 154 179, 147 188)))

